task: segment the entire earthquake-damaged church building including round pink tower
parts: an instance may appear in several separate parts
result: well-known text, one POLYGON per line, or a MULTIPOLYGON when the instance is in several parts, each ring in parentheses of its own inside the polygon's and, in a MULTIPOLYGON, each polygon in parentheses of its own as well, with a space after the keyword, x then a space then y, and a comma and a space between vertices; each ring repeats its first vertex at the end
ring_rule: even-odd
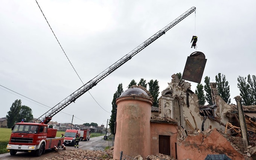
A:
POLYGON ((211 83, 213 105, 199 105, 190 83, 172 75, 152 107, 146 88, 133 85, 116 99, 113 159, 165 154, 177 160, 204 160, 225 154, 232 160, 256 158, 256 106, 227 104, 211 83), (239 109, 240 107, 240 109, 239 109))

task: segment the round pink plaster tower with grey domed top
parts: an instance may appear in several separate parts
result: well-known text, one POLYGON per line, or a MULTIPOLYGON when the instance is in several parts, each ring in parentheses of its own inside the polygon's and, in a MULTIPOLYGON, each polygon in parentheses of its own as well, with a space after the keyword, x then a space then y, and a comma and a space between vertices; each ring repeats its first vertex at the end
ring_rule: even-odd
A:
POLYGON ((120 152, 130 157, 150 155, 150 119, 152 99, 141 88, 131 87, 116 100, 114 160, 120 152))

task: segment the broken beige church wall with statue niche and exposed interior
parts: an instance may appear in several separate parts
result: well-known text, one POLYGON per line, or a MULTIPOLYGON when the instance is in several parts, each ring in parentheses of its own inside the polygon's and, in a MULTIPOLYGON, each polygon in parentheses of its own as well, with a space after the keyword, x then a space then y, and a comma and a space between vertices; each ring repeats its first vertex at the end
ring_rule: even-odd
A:
MULTIPOLYGON (((162 95, 159 98, 159 117, 166 116, 165 108, 167 106, 171 110, 170 118, 177 120, 178 125, 183 126, 187 131, 190 131, 192 129, 187 125, 186 121, 188 121, 193 127, 193 130, 202 131, 204 117, 200 115, 197 95, 191 91, 184 90, 184 87, 180 87, 179 83, 176 81, 172 81, 168 84, 169 86, 162 91, 162 95), (187 94, 189 96, 187 96, 187 94), (187 98, 189 104, 187 104, 187 98), (175 103, 175 101, 177 102, 175 103)), ((220 119, 222 123, 226 124, 228 118, 225 116, 225 113, 232 109, 232 107, 224 102, 218 95, 216 83, 212 83, 211 87, 213 90, 212 101, 217 105, 214 115, 216 118, 220 119)), ((217 128, 221 131, 226 130, 224 126, 209 118, 204 122, 204 130, 207 130, 208 128, 217 128)), ((230 133, 230 131, 228 132, 230 133)))

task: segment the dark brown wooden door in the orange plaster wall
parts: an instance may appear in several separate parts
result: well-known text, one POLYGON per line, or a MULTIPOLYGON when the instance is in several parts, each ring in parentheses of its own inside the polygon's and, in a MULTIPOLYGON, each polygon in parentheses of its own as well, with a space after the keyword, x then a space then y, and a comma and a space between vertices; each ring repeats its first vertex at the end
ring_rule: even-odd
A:
POLYGON ((170 136, 159 135, 159 153, 171 155, 170 136))

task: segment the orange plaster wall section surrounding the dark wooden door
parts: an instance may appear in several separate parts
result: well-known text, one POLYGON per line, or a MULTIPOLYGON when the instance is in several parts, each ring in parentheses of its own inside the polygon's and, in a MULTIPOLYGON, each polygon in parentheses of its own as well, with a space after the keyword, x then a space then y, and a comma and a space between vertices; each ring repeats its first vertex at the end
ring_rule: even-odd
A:
POLYGON ((171 156, 175 157, 175 142, 177 139, 177 125, 169 123, 150 123, 151 155, 159 153, 159 135, 170 136, 171 156))

